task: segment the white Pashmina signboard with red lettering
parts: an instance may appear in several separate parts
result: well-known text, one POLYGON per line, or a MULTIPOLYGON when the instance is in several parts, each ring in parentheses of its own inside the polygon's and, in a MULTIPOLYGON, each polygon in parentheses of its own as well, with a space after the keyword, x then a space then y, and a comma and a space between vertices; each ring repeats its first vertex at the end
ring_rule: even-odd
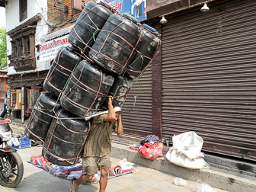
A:
POLYGON ((40 44, 40 62, 54 59, 59 49, 63 46, 70 46, 68 37, 69 34, 40 44))

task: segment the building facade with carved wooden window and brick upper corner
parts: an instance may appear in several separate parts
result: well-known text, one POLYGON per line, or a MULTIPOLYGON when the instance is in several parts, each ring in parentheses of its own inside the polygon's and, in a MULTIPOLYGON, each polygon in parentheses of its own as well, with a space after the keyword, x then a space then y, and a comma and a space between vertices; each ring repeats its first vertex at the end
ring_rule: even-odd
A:
POLYGON ((10 118, 26 123, 24 115, 31 113, 44 91, 50 61, 60 47, 68 44, 66 36, 82 8, 67 0, 0 2, 6 11, 10 118), (44 49, 50 41, 57 42, 54 49, 44 49))

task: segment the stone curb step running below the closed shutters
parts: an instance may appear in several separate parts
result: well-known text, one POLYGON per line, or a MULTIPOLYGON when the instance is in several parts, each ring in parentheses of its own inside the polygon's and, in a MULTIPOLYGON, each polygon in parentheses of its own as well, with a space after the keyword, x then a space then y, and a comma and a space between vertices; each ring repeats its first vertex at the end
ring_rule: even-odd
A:
POLYGON ((127 158, 128 162, 153 168, 155 170, 172 174, 175 177, 184 178, 189 181, 197 181, 200 179, 201 181, 206 182, 206 184, 210 184, 211 187, 216 187, 222 190, 232 192, 256 191, 256 181, 252 177, 242 174, 234 174, 230 171, 225 171, 219 168, 202 170, 183 168, 168 162, 168 160, 164 157, 155 158, 154 161, 151 161, 149 159, 140 157, 136 151, 129 149, 128 146, 114 142, 112 142, 110 156, 121 159, 127 158))

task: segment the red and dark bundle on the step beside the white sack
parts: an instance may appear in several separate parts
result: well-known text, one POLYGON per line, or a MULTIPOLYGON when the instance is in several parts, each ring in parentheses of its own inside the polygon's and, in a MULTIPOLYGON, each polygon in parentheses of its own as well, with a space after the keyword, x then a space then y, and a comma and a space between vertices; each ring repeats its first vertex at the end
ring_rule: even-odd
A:
POLYGON ((163 156, 163 144, 158 136, 149 135, 140 142, 138 153, 143 158, 155 160, 155 158, 163 156))

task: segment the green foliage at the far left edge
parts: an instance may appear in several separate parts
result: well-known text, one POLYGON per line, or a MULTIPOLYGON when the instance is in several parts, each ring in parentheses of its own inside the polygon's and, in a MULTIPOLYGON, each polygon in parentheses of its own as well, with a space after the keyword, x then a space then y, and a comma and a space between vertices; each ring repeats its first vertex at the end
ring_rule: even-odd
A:
POLYGON ((0 69, 7 66, 6 30, 0 29, 0 69))

